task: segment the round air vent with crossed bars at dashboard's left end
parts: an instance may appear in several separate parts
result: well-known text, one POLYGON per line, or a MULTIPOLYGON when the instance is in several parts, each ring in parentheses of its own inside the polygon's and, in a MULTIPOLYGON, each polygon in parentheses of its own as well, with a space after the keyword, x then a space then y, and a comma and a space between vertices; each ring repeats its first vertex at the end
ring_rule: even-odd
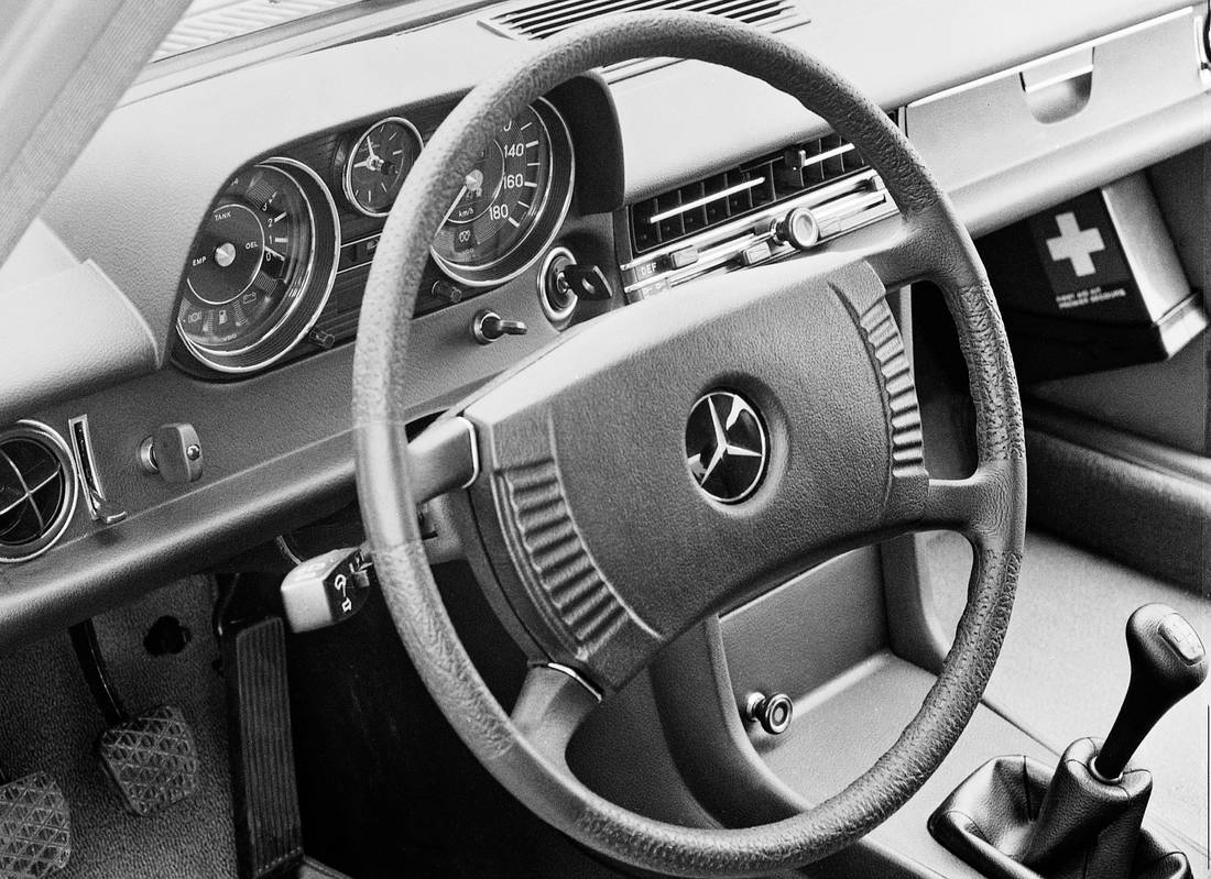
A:
POLYGON ((50 550, 75 504, 71 453, 58 433, 38 421, 0 431, 0 562, 50 550))

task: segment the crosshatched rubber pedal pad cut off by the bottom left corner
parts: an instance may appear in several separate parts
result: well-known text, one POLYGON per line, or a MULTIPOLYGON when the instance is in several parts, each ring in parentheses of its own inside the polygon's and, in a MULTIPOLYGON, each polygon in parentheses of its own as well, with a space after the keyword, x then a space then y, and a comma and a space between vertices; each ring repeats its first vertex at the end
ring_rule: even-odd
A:
POLYGON ((46 772, 0 785, 0 879, 41 879, 68 866, 71 814, 46 772))

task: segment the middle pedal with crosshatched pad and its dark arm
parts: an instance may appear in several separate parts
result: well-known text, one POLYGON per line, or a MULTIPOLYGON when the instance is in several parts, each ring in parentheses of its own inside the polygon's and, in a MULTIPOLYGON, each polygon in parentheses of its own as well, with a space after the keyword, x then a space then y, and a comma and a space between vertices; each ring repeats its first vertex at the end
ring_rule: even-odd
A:
POLYGON ((184 713, 161 705, 132 717, 109 679, 92 620, 70 633, 80 670, 109 725, 97 752, 122 805, 145 816, 191 795, 197 789, 197 747, 184 713))

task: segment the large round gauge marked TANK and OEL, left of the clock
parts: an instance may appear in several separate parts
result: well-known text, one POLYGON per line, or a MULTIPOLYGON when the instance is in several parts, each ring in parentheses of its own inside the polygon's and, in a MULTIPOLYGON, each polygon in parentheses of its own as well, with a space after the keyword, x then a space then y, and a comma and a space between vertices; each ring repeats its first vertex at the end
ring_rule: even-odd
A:
POLYGON ((337 239, 335 205, 310 168, 270 159, 239 172, 185 269, 177 327, 189 352, 233 373, 283 356, 327 301, 337 239))

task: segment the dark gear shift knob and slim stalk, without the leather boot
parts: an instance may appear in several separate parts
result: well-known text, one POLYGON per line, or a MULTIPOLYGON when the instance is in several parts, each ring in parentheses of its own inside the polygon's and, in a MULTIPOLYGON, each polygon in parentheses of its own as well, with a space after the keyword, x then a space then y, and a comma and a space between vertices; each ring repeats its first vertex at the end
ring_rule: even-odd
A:
POLYGON ((1140 742, 1165 712, 1207 677, 1206 649, 1186 619, 1164 604, 1144 604, 1127 620, 1131 683, 1091 769, 1103 781, 1123 775, 1140 742))

